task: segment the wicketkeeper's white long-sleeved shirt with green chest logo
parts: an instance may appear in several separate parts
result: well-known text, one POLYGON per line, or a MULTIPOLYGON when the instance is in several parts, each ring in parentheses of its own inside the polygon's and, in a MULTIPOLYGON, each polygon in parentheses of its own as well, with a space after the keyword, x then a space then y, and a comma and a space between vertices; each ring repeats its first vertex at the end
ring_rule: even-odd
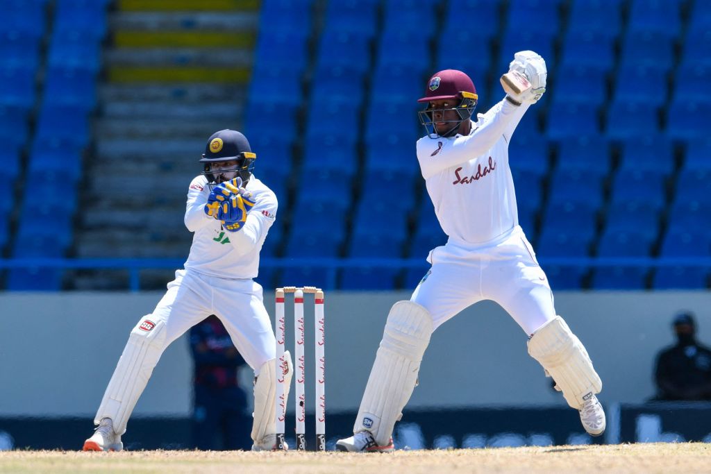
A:
POLYGON ((246 188, 255 200, 247 221, 237 232, 224 230, 220 221, 205 214, 210 189, 205 176, 190 183, 185 225, 194 232, 185 268, 226 279, 257 276, 260 250, 277 215, 277 196, 262 181, 250 178, 246 188))

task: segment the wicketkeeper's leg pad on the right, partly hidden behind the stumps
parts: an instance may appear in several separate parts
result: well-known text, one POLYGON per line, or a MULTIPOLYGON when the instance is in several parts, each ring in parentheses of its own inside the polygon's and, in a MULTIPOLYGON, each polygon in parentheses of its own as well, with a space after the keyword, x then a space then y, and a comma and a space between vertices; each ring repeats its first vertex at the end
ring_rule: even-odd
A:
MULTIPOLYGON (((287 361, 287 372, 284 373, 284 399, 289 399, 289 388, 292 386, 294 365, 292 355, 284 351, 284 360, 287 361)), ((258 443, 268 434, 277 433, 277 360, 264 362, 260 375, 255 382, 255 411, 252 413, 252 441, 258 443)))

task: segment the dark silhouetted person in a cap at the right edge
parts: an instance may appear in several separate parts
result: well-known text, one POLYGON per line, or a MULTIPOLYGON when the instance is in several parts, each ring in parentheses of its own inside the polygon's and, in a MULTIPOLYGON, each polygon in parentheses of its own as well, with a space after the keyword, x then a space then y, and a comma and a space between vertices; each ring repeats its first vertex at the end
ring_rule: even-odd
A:
POLYGON ((695 339, 690 313, 673 322, 677 344, 662 350, 656 362, 658 400, 711 400, 711 349, 695 339))

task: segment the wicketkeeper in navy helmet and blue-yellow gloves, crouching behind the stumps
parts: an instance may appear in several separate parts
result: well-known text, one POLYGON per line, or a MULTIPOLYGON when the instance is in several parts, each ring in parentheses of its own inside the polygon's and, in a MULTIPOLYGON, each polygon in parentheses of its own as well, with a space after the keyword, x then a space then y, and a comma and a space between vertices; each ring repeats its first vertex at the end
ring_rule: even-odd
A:
POLYGON ((190 183, 185 225, 193 244, 185 268, 176 271, 153 313, 129 335, 94 419, 98 425, 84 451, 121 451, 129 416, 168 345, 214 314, 255 371, 252 450, 276 446, 277 370, 285 390, 292 362, 276 366, 276 340, 257 276, 260 250, 277 215, 277 196, 252 173, 256 153, 239 131, 210 136, 200 160, 203 172, 190 183))

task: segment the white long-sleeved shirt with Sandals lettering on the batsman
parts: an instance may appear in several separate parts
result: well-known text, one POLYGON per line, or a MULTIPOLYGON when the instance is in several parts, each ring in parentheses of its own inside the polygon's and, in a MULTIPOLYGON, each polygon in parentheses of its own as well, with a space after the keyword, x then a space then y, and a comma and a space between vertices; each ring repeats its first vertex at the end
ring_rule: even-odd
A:
POLYGON ((417 161, 449 241, 486 244, 518 225, 508 141, 530 107, 506 99, 479 114, 471 133, 417 141, 417 161))

